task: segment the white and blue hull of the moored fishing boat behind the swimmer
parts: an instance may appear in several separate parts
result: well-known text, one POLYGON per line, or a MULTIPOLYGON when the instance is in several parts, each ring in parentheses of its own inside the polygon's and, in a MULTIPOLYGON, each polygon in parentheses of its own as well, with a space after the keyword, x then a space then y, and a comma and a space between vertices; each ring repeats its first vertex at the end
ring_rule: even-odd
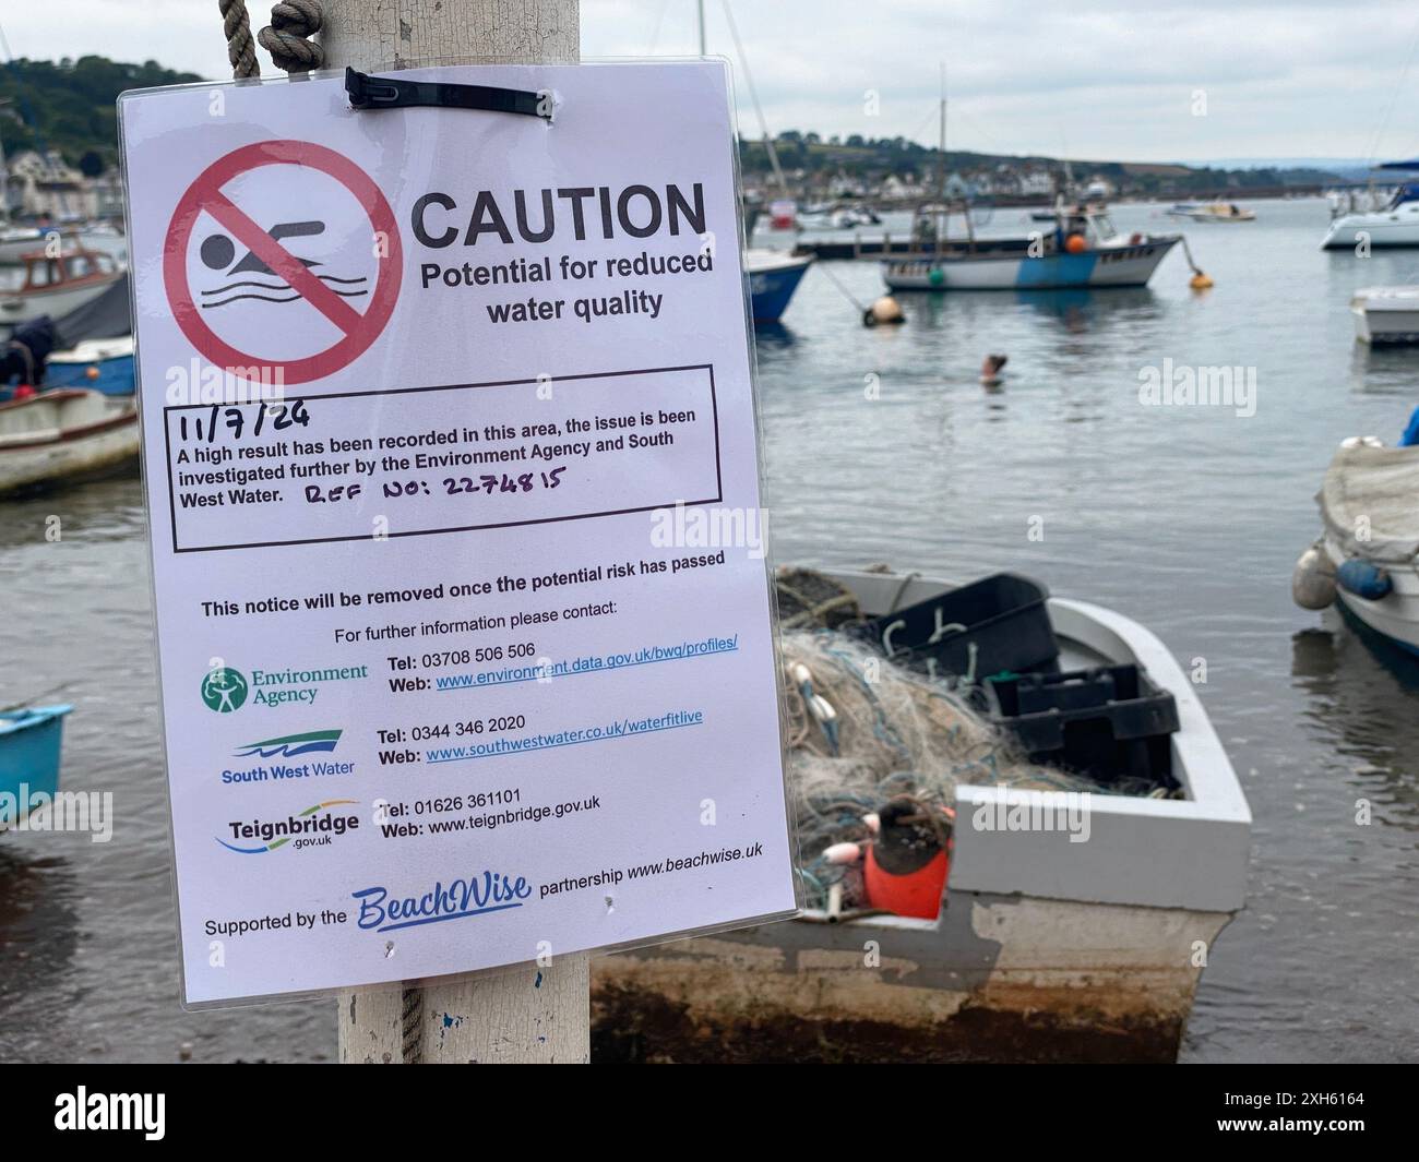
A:
POLYGON ((1070 287, 1142 287, 1176 238, 1087 250, 1081 254, 912 258, 883 262, 893 291, 1054 291, 1070 287))

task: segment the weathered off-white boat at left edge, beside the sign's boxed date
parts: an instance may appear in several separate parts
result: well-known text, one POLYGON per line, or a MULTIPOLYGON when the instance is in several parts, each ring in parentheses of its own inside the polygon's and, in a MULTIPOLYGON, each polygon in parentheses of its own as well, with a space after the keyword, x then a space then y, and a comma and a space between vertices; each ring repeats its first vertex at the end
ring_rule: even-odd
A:
POLYGON ((65 387, 0 403, 0 497, 138 460, 133 397, 65 387))

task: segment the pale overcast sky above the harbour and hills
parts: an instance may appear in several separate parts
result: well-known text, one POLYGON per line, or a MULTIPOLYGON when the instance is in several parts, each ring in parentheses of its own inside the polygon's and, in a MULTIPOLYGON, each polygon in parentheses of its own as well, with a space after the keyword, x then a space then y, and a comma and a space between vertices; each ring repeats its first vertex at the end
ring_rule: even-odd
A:
MULTIPOLYGON (((710 51, 734 58, 721 0, 707 9, 710 51)), ((775 132, 932 142, 945 64, 954 148, 1121 160, 1419 153, 1412 0, 736 0, 734 11, 775 132)), ((16 0, 0 21, 17 57, 102 52, 228 72, 216 0, 16 0)), ((582 0, 586 57, 695 50, 694 0, 582 0)), ((756 135, 736 60, 735 75, 741 131, 756 135)))

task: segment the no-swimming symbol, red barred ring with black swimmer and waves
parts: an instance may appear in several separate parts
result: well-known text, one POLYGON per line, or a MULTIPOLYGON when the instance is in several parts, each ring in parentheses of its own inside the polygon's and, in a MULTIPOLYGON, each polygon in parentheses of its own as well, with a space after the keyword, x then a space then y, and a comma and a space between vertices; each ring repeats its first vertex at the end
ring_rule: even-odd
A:
MULTIPOLYGON (((302 201, 302 204, 305 204, 302 201)), ((271 140, 247 145, 213 162, 187 187, 173 210, 163 250, 163 282, 173 318, 182 333, 210 363, 241 377, 270 376, 281 383, 308 383, 349 366, 379 338, 399 299, 403 251, 389 201, 359 166, 322 145, 298 140, 271 140), (376 260, 373 289, 366 278, 318 275, 309 260, 298 258, 287 240, 319 236, 325 223, 302 213, 301 220, 260 226, 223 187, 265 166, 301 166, 335 179, 369 220, 369 253, 376 260), (216 291, 193 295, 187 270, 189 248, 203 216, 216 220, 226 231, 204 237, 199 258, 210 271, 230 278, 216 291), (230 236, 230 237, 228 237, 230 236), (383 241, 375 245, 375 240, 383 241), (238 245, 245 248, 234 261, 238 245), (264 280, 284 280, 267 282, 264 280), (220 297, 219 297, 220 295, 220 297), (365 311, 356 311, 352 298, 366 298, 365 311), (199 298, 201 299, 199 305, 199 298), (260 352, 241 350, 221 338, 203 316, 204 311, 245 306, 251 302, 294 302, 304 299, 341 332, 324 350, 299 358, 272 359, 260 352), (263 369, 260 373, 257 369, 263 369)))

